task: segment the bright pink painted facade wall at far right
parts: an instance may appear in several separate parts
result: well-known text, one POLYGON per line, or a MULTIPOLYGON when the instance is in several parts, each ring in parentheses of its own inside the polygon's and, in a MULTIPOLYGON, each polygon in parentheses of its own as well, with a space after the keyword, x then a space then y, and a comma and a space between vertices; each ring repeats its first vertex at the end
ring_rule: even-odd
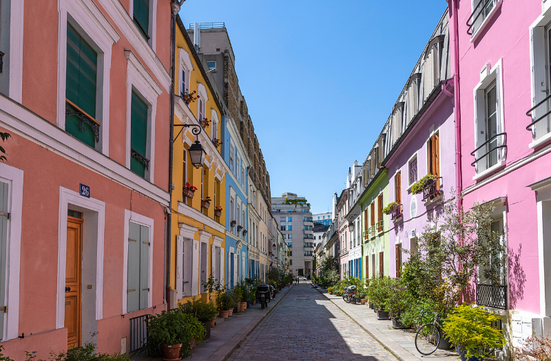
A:
POLYGON ((459 72, 461 77, 461 168, 466 208, 481 201, 507 196, 506 223, 509 248, 510 309, 539 314, 538 236, 535 193, 528 184, 549 177, 551 156, 539 157, 516 171, 510 166, 534 153, 526 126, 532 107, 530 86, 529 27, 541 14, 541 1, 503 1, 501 7, 481 30, 478 39, 470 43, 466 21, 471 3, 459 1, 459 72), (473 89, 480 81, 480 70, 487 62, 493 67, 499 60, 503 67, 503 124, 507 133, 506 168, 497 175, 472 180, 475 159, 473 89), (512 263, 511 263, 512 262, 512 263), (514 268, 513 268, 514 267, 514 268))

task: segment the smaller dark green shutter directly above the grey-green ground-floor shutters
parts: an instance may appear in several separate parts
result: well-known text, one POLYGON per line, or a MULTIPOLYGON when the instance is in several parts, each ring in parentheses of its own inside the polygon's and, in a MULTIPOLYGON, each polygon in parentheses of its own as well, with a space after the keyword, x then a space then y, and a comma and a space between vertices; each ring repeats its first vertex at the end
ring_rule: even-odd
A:
MULTIPOLYGON (((130 146, 141 156, 147 155, 147 104, 132 91, 132 109, 130 113, 130 146)), ((145 164, 136 157, 130 157, 130 170, 145 177, 145 164)))

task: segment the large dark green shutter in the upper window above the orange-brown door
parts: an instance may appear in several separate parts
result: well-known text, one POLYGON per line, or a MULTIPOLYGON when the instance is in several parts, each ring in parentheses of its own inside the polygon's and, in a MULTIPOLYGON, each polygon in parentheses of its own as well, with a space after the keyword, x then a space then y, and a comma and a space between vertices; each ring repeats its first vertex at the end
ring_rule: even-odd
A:
MULTIPOLYGON (((92 118, 96 118, 97 65, 98 54, 71 25, 67 24, 65 97, 92 118)), ((92 127, 86 122, 81 122, 76 116, 67 117, 65 131, 89 146, 94 147, 96 144, 92 127)))

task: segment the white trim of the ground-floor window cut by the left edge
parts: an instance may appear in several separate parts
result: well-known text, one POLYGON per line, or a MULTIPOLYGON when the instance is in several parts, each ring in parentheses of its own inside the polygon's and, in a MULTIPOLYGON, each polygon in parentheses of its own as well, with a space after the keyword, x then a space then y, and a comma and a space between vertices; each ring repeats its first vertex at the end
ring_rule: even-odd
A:
POLYGON ((23 218, 23 171, 0 163, 0 181, 8 182, 10 199, 8 209, 8 243, 6 245, 6 300, 10 310, 4 316, 3 339, 19 336, 19 274, 21 272, 21 219, 23 218))

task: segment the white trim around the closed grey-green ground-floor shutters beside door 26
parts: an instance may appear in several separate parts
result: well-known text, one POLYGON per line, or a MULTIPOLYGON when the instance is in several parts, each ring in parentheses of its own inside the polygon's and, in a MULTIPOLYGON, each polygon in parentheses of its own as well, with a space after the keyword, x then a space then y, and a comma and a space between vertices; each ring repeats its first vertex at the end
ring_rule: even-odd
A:
MULTIPOLYGON (((123 238, 123 244, 124 244, 124 254, 123 254, 123 314, 127 314, 126 309, 126 297, 127 297, 127 283, 128 283, 128 234, 129 234, 129 228, 130 228, 130 221, 133 223, 137 223, 141 226, 145 226, 149 228, 149 270, 147 277, 149 292, 147 293, 147 308, 153 307, 153 224, 154 221, 152 218, 145 217, 143 215, 138 215, 136 212, 132 212, 132 210, 125 209, 125 230, 124 230, 124 238, 123 238)), ((131 312, 130 312, 131 313, 131 312)))

